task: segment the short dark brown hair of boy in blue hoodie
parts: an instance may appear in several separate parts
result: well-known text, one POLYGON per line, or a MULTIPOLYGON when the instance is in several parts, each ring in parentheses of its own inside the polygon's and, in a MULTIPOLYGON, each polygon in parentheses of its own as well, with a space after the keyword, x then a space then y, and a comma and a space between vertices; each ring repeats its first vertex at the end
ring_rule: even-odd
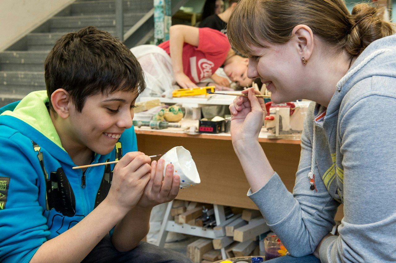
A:
POLYGON ((44 76, 51 94, 58 88, 69 92, 81 112, 86 98, 95 94, 145 89, 143 70, 129 49, 108 32, 87 26, 58 39, 49 52, 44 76))

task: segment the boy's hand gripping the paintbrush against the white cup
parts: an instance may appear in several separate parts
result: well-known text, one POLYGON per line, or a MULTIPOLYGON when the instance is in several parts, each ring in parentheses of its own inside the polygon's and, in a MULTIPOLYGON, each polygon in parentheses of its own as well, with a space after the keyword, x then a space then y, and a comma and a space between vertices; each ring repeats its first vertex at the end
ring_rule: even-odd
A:
POLYGON ((131 210, 141 198, 150 180, 151 159, 142 152, 128 152, 113 171, 112 184, 106 199, 124 212, 131 210))

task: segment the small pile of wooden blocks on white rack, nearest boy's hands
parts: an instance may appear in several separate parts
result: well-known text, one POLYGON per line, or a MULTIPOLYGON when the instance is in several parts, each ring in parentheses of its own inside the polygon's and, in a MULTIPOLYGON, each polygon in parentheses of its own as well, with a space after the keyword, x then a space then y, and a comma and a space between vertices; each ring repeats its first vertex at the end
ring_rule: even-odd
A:
MULTIPOLYGON (((206 207, 210 205, 205 205, 206 207)), ((212 205, 213 207, 213 205, 212 205)), ((174 200, 171 209, 176 224, 189 224, 202 227, 202 204, 183 200, 174 200)))

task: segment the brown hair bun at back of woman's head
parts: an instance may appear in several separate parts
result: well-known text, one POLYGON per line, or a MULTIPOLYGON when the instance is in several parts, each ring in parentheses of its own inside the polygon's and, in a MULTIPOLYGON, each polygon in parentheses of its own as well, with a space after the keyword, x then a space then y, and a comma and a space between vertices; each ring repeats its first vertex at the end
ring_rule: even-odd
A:
POLYGON ((359 55, 373 41, 393 33, 392 25, 379 17, 381 9, 370 4, 357 4, 351 14, 351 29, 345 48, 359 55))

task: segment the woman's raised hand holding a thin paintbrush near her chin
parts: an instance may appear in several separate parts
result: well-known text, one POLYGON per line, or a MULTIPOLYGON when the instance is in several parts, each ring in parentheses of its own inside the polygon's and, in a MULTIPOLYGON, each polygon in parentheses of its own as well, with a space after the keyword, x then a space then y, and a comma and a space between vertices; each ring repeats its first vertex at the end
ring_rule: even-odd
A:
POLYGON ((248 88, 242 93, 249 96, 238 96, 229 107, 232 116, 230 131, 234 147, 244 145, 251 140, 257 141, 264 117, 267 115, 263 98, 254 96, 259 95, 259 91, 248 88))

